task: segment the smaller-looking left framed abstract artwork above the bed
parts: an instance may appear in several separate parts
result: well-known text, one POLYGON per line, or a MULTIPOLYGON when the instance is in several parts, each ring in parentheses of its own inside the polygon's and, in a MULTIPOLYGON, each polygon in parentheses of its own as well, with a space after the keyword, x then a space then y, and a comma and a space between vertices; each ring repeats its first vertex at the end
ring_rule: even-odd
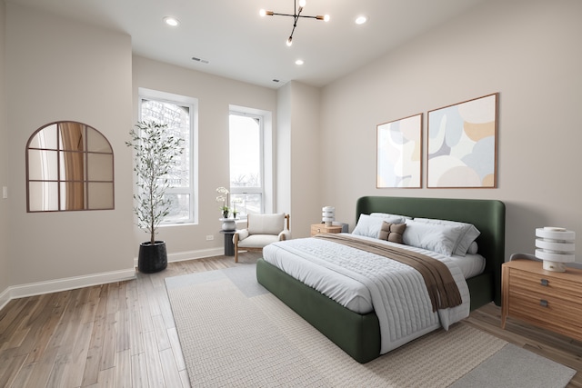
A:
POLYGON ((376 188, 422 187, 423 114, 376 125, 376 188))

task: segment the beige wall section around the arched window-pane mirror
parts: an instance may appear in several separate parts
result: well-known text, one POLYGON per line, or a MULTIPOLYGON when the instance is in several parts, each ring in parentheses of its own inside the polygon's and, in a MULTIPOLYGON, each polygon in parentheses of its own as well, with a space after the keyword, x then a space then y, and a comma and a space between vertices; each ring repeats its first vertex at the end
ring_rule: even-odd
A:
POLYGON ((131 39, 12 3, 6 15, 10 284, 131 274, 132 162, 124 144, 132 125, 131 39), (26 142, 58 120, 89 124, 112 144, 115 210, 26 213, 26 142))

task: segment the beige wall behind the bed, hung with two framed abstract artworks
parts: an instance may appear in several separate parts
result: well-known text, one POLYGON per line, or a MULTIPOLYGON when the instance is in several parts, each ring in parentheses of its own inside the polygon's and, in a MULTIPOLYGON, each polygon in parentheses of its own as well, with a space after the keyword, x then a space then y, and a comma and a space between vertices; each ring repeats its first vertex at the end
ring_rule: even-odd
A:
POLYGON ((555 225, 577 232, 582 262, 580 15, 577 0, 487 1, 327 85, 320 174, 337 217, 353 228, 362 195, 495 198, 507 255, 555 225), (497 189, 376 189, 376 124, 424 113, 426 166, 426 112, 497 92, 497 189))

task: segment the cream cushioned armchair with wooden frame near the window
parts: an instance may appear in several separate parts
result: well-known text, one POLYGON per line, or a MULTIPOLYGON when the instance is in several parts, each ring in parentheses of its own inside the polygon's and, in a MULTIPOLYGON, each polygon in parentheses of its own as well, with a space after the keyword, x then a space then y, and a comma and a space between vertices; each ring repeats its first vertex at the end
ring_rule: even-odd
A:
POLYGON ((246 229, 238 229, 233 235, 235 263, 238 263, 239 249, 262 251, 264 246, 288 240, 290 237, 289 214, 248 214, 246 229))

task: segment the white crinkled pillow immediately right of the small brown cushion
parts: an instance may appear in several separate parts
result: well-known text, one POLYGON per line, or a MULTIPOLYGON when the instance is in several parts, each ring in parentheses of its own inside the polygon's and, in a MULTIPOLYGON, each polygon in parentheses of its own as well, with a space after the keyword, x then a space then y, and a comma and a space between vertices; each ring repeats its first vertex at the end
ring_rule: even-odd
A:
POLYGON ((406 245, 451 256, 459 236, 463 232, 462 226, 427 224, 406 220, 406 230, 402 239, 406 245))

